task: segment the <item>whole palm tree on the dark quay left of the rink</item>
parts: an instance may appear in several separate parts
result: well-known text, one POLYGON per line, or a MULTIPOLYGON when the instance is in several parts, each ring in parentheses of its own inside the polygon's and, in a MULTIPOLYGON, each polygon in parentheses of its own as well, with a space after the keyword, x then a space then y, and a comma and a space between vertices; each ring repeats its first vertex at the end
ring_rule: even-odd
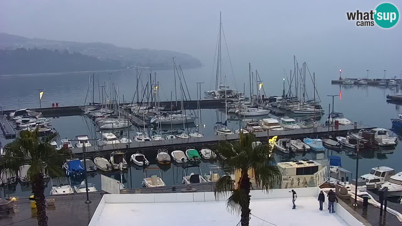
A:
POLYGON ((47 226, 45 208, 45 182, 44 176, 60 178, 64 175, 62 164, 70 155, 70 150, 61 148, 56 150, 50 142, 59 138, 58 133, 39 138, 39 131, 21 131, 19 136, 4 147, 4 156, 0 160, 0 166, 17 175, 19 166, 31 165, 27 177, 32 182, 32 193, 37 205, 37 219, 39 226, 47 226))

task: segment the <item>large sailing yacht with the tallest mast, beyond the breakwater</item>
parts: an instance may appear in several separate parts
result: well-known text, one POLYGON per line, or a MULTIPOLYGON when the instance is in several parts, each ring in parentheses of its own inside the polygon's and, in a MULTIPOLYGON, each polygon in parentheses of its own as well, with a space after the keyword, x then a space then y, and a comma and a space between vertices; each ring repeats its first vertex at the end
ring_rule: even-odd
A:
POLYGON ((209 99, 230 99, 239 100, 243 99, 242 93, 238 92, 236 89, 231 89, 229 86, 222 84, 222 13, 219 12, 219 38, 218 38, 218 48, 217 48, 217 68, 215 77, 215 90, 207 90, 204 92, 205 97, 209 99), (218 80, 220 83, 218 85, 218 80))

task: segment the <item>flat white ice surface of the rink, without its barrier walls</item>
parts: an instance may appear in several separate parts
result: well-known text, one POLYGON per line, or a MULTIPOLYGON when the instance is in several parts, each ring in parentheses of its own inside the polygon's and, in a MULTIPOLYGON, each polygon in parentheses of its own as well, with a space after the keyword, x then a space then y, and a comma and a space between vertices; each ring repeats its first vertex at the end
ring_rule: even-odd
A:
MULTIPOLYGON (((289 198, 252 199, 251 213, 277 226, 347 226, 336 213, 328 213, 328 200, 319 210, 316 197, 298 197, 292 210, 289 198)), ((105 203, 97 226, 236 226, 240 220, 226 211, 225 201, 169 203, 105 203)), ((251 226, 272 226, 251 216, 251 226)))

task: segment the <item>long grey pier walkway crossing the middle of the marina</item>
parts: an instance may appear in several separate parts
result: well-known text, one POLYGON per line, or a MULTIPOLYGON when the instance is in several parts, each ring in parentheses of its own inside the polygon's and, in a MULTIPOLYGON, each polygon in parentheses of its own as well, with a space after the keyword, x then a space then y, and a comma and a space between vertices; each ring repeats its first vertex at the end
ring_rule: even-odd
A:
MULTIPOLYGON (((372 129, 373 127, 357 126, 353 125, 340 125, 339 129, 332 127, 316 127, 316 128, 304 128, 304 129, 290 129, 290 130, 274 130, 256 132, 255 135, 260 141, 267 141, 267 137, 279 136, 279 138, 322 138, 324 136, 345 136, 348 131, 358 131, 359 129, 372 129), (269 134, 268 134, 269 133, 269 134)), ((146 152, 157 152, 160 148, 166 148, 168 150, 179 150, 180 148, 186 148, 187 146, 194 146, 195 148, 211 147, 217 145, 222 140, 234 141, 238 140, 238 134, 231 135, 217 135, 202 138, 188 138, 188 139, 174 139, 174 140, 160 140, 149 142, 132 142, 127 144, 109 144, 104 146, 90 146, 86 148, 86 152, 89 155, 111 153, 116 150, 125 152, 137 152, 139 150, 146 152)), ((82 154, 82 148, 72 148, 74 154, 82 154)))

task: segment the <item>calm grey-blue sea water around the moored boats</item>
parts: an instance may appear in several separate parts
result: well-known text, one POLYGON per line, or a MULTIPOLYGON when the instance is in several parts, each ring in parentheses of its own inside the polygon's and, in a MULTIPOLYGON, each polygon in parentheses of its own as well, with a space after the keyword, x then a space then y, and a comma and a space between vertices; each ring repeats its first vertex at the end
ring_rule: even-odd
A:
MULTIPOLYGON (((248 69, 248 68, 246 68, 248 69)), ((242 68, 239 70, 244 76, 236 77, 236 88, 243 90, 243 83, 245 83, 246 93, 249 93, 248 85, 248 70, 242 68)), ((240 73, 239 72, 239 73, 240 73)), ((149 81, 149 71, 142 72, 142 82, 144 87, 146 81, 149 81)), ((152 77, 154 76, 154 72, 152 77)), ((160 84, 160 99, 170 100, 170 94, 172 92, 172 99, 174 100, 174 76, 170 70, 157 71, 157 80, 160 84)), ((92 74, 92 73, 91 73, 92 74)), ((201 93, 208 90, 211 83, 211 68, 203 67, 193 70, 184 71, 187 86, 192 99, 196 99, 196 83, 205 82, 201 86, 201 93)), ((276 75, 264 75, 260 73, 261 80, 264 80, 264 89, 268 96, 281 95, 282 93, 282 78, 276 75)), ((342 93, 342 99, 339 97, 334 98, 334 110, 340 111, 351 121, 359 121, 363 125, 371 125, 375 127, 390 128, 390 118, 396 117, 400 113, 400 106, 390 104, 386 102, 386 95, 396 93, 397 88, 390 87, 373 87, 373 86, 343 86, 343 85, 331 85, 330 80, 334 78, 319 77, 316 76, 316 86, 321 99, 321 105, 328 114, 328 104, 332 105, 332 97, 326 95, 338 95, 342 93)), ((177 78, 178 80, 178 78, 177 78)), ((226 83, 230 83, 234 86, 234 79, 230 79, 229 76, 226 79, 226 83)), ((183 81, 184 82, 184 81, 183 81)), ((98 84, 100 86, 104 84, 114 83, 119 87, 119 98, 122 101, 124 99, 131 101, 136 88, 135 74, 133 70, 116 71, 116 72, 98 72, 94 76, 95 94, 94 99, 99 102, 98 84), (110 73, 110 74, 109 74, 110 73), (98 83, 99 80, 99 83, 98 83)), ((254 84, 254 86, 256 86, 254 84)), ((213 85, 212 85, 213 87, 213 85)), ((306 90, 312 90, 311 82, 306 87, 306 90)), ((35 74, 35 75, 21 75, 21 76, 1 76, 0 77, 0 106, 2 109, 18 109, 18 108, 33 108, 39 107, 39 93, 36 89, 43 89, 45 95, 41 100, 42 107, 50 107, 51 103, 59 103, 60 106, 68 105, 82 105, 86 100, 92 101, 92 84, 88 79, 88 73, 59 73, 59 74, 35 74), (88 87, 90 91, 88 92, 88 87), (87 95, 87 93, 89 93, 87 95)), ((288 88, 286 88, 287 90, 288 88)), ((177 86, 178 99, 180 99, 180 88, 177 86)), ((109 93, 110 90, 105 90, 105 93, 109 93)), ((256 92, 256 87, 254 87, 256 92)), ((140 92, 141 94, 141 92, 140 92)), ((307 92, 308 97, 313 97, 313 92, 307 92)), ((135 98, 136 99, 136 98, 135 98)), ((141 99, 141 98, 140 98, 141 99)), ((331 106, 332 109, 332 106, 331 106)), ((190 126, 189 129, 194 128, 196 124, 200 125, 201 131, 205 136, 214 136, 213 126, 216 121, 225 120, 224 111, 218 111, 215 109, 203 109, 202 122, 197 121, 190 126), (205 124, 205 127, 203 126, 205 124)), ((274 117, 274 116, 272 116, 274 117)), ((325 118, 322 117, 322 123, 325 118)), ((61 138, 74 138, 80 134, 88 134, 90 137, 99 137, 99 133, 94 128, 92 122, 83 116, 70 116, 53 118, 52 126, 59 131, 61 138)), ((228 127, 237 129, 239 127, 239 121, 235 116, 229 115, 228 127)), ((180 128, 181 126, 176 126, 180 128)), ((168 126, 169 129, 170 127, 168 126)), ((140 128, 131 127, 131 137, 135 131, 140 128)), ((127 131, 124 130, 123 134, 127 131)), ((396 134, 394 134, 396 136, 396 134)), ((10 140, 4 140, 0 138, 3 145, 10 140)), ((383 151, 371 150, 363 153, 363 158, 359 161, 359 175, 368 173, 370 168, 375 166, 390 166, 397 172, 402 171, 400 166, 400 159, 402 158, 401 146, 397 146, 391 153, 384 153, 383 151)), ((335 152, 331 151, 329 154, 342 156, 342 164, 349 171, 355 172, 355 157, 348 155, 347 152, 335 152)), ((155 156, 147 156, 149 159, 154 160, 155 156)), ((313 158, 312 154, 302 156, 301 154, 295 156, 295 158, 313 158)), ((289 158, 286 156, 275 156, 277 161, 286 161, 289 158)), ((208 165, 213 163, 201 162, 200 169, 203 173, 209 171, 208 165)), ((192 170, 198 171, 197 168, 192 170)), ((162 171, 162 177, 166 185, 180 184, 183 174, 189 174, 192 171, 189 169, 185 172, 183 168, 174 166, 173 164, 166 171, 162 171)), ((109 175, 115 179, 120 180, 120 174, 109 175)), ((123 183, 127 188, 141 187, 144 173, 142 170, 137 170, 134 167, 130 167, 129 171, 123 174, 123 183)), ((95 183, 98 190, 100 190, 100 174, 92 174, 88 177, 89 183, 95 183)), ((49 194, 51 181, 46 188, 46 194, 49 194)), ((76 183, 79 183, 76 182, 76 183)), ((4 188, 2 193, 10 193, 12 196, 27 197, 31 194, 30 187, 21 187, 17 185, 15 188, 4 188)))

